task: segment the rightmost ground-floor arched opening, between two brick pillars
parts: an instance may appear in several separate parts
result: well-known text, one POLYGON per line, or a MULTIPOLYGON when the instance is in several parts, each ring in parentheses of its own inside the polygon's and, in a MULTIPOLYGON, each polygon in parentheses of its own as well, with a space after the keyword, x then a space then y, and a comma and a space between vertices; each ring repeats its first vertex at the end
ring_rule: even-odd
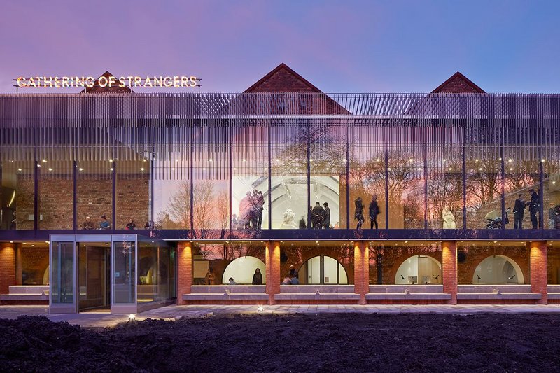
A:
POLYGON ((500 283, 525 283, 521 267, 505 255, 492 255, 482 260, 475 274, 472 275, 472 283, 500 284, 500 283))

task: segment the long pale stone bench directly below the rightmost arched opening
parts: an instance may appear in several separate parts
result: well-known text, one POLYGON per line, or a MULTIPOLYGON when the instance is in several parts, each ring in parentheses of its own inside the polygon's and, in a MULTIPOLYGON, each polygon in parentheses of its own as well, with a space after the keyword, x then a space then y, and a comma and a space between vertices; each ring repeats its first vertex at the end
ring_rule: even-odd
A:
POLYGON ((459 285, 457 300, 540 300, 531 285, 459 285))

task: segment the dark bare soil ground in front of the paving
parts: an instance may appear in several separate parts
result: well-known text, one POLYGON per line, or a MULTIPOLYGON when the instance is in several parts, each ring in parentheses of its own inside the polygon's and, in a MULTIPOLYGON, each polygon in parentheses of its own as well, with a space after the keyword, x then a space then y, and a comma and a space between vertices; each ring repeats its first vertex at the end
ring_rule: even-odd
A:
POLYGON ((559 351, 554 314, 0 319, 2 372, 559 372, 559 351))

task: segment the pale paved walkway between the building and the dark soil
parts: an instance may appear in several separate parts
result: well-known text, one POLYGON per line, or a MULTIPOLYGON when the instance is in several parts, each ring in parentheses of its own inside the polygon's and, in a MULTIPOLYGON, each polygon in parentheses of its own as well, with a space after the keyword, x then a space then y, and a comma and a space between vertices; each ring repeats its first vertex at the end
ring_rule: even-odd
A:
MULTIPOLYGON (((559 313, 560 305, 510 305, 510 304, 447 304, 409 305, 409 304, 302 304, 276 305, 262 308, 258 306, 167 306, 136 315, 137 320, 160 318, 176 320, 181 317, 202 317, 220 314, 319 314, 319 313, 358 312, 362 314, 477 314, 496 312, 506 314, 559 313)), ((45 306, 0 306, 0 318, 18 318, 22 315, 44 315, 52 321, 67 321, 83 328, 106 328, 128 321, 127 315, 87 312, 85 314, 49 314, 45 306)))

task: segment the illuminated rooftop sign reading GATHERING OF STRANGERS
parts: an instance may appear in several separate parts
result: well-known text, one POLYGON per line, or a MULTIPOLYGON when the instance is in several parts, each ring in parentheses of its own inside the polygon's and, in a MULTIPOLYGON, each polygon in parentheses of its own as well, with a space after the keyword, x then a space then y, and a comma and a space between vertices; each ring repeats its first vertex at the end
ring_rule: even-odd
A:
POLYGON ((92 88, 92 87, 200 87, 196 76, 20 76, 14 79, 14 87, 20 88, 92 88))

